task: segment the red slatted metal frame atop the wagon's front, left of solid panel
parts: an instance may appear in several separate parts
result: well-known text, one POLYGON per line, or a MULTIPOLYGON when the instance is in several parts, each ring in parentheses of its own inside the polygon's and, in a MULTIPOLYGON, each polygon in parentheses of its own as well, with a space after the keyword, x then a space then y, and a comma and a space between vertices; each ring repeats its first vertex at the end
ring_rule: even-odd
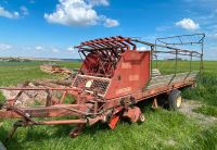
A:
POLYGON ((88 57, 88 53, 94 53, 101 59, 99 60, 99 67, 101 70, 99 70, 98 73, 94 73, 94 75, 98 74, 102 77, 112 77, 113 73, 107 72, 106 66, 111 66, 112 72, 114 72, 116 64, 120 59, 120 53, 125 52, 126 50, 136 50, 137 46, 131 41, 130 38, 117 36, 81 42, 80 46, 75 48, 77 48, 80 55, 84 55, 85 58, 88 57), (99 73, 100 71, 103 71, 103 74, 99 73))

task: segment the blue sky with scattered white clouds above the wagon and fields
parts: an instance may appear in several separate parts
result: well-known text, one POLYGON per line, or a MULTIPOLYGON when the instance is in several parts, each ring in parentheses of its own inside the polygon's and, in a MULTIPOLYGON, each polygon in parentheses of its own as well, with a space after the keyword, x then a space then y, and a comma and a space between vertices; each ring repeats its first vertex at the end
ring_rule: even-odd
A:
POLYGON ((195 33, 217 60, 217 0, 0 0, 0 57, 77 59, 90 39, 195 33))

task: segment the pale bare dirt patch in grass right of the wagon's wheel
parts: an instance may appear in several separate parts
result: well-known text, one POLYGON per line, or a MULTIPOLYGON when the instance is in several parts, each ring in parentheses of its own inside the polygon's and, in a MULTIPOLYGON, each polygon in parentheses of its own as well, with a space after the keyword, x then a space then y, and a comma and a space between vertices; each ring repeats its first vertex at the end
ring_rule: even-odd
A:
POLYGON ((202 107, 202 103, 197 101, 184 100, 179 111, 191 118, 195 118, 203 126, 209 126, 217 123, 217 117, 193 112, 194 109, 200 107, 202 107))

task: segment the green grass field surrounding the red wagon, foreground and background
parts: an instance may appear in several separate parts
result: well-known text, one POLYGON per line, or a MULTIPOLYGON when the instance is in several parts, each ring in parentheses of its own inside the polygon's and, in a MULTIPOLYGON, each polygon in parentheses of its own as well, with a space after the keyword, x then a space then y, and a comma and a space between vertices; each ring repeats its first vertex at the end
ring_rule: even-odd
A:
MULTIPOLYGON (((52 78, 41 73, 39 65, 31 63, 0 63, 0 86, 16 85, 24 80, 36 78, 52 78)), ((79 63, 60 62, 67 67, 78 67, 79 63)), ((217 62, 204 62, 204 75, 197 82, 197 87, 184 91, 188 99, 203 103, 196 109, 199 113, 216 116, 217 113, 217 62)), ((0 96, 2 100, 3 97, 0 96)), ((76 139, 68 137, 71 125, 36 126, 20 128, 8 145, 10 150, 18 149, 217 149, 217 124, 203 126, 195 118, 187 117, 179 112, 162 109, 142 108, 146 122, 129 124, 120 122, 114 130, 106 125, 97 124, 85 128, 76 139)), ((0 140, 3 140, 14 121, 2 121, 0 140)))

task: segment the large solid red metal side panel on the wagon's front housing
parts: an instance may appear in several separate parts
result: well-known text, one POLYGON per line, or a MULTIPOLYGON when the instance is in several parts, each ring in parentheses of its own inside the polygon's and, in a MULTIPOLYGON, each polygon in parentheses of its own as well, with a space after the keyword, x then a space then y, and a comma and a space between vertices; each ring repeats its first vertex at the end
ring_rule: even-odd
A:
POLYGON ((149 60, 149 51, 126 51, 112 77, 105 98, 110 100, 142 89, 150 78, 149 60))

